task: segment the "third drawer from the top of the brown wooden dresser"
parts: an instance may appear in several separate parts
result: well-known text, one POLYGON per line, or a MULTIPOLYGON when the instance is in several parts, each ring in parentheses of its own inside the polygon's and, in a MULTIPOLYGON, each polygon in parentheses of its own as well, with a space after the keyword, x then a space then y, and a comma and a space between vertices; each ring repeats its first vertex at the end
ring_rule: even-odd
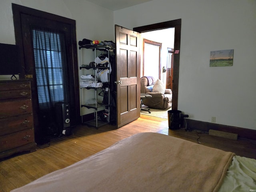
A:
POLYGON ((0 118, 32 113, 31 99, 1 102, 0 105, 0 118))

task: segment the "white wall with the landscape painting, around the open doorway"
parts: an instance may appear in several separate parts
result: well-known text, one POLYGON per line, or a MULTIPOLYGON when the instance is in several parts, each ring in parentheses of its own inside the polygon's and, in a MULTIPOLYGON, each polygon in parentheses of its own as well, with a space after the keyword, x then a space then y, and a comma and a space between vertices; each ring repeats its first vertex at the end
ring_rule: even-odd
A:
POLYGON ((256 130, 255 10, 255 0, 152 0, 114 11, 114 24, 132 29, 181 18, 178 109, 256 130), (233 66, 209 67, 210 51, 226 49, 234 49, 233 66))

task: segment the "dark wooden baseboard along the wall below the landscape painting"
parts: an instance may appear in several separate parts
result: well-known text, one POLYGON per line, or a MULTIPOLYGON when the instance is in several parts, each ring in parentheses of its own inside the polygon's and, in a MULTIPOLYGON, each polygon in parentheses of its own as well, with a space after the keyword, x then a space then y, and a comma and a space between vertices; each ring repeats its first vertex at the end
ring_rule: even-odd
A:
POLYGON ((256 130, 186 119, 187 127, 192 130, 209 132, 210 129, 238 134, 238 138, 256 140, 256 130))

